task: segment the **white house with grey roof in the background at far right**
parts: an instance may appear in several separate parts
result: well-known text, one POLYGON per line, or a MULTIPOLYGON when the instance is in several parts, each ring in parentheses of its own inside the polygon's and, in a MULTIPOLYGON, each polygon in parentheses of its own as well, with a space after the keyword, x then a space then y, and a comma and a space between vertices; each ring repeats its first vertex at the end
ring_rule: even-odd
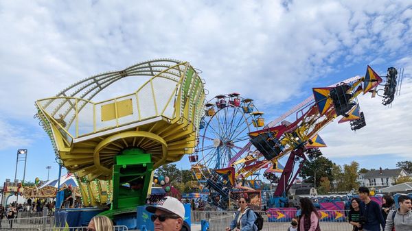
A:
POLYGON ((384 188, 392 186, 398 178, 408 174, 404 169, 382 169, 380 167, 378 170, 370 170, 367 173, 359 174, 358 182, 361 186, 384 188))

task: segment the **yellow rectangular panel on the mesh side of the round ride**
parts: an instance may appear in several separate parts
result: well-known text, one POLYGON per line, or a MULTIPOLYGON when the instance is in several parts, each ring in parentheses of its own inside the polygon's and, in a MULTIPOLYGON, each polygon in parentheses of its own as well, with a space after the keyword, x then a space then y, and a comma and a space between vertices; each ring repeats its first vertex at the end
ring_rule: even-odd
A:
MULTIPOLYGON (((117 101, 117 118, 126 117, 133 114, 132 99, 117 101)), ((102 106, 102 121, 116 119, 115 103, 105 104, 102 106)))

